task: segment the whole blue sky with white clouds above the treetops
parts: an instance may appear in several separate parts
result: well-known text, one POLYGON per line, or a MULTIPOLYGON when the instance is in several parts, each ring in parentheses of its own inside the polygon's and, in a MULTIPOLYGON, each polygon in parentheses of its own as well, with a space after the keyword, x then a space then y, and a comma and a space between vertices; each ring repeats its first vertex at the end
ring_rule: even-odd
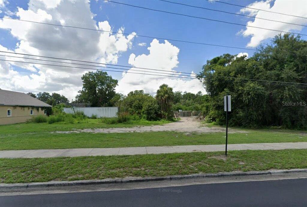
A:
MULTIPOLYGON (((213 0, 170 1, 307 25, 307 18, 247 9, 213 0)), ((307 17, 307 1, 303 0, 221 1, 307 17)), ((251 57, 254 51, 248 49, 256 49, 260 44, 270 43, 272 38, 280 33, 246 27, 246 25, 307 34, 307 28, 303 26, 192 8, 158 0, 114 0, 114 2, 229 21, 243 24, 243 26, 150 11, 103 0, 0 0, 1 17, 92 29, 65 28, 0 18, 0 51, 98 62, 102 63, 101 66, 107 66, 103 65, 106 63, 154 68, 168 71, 168 73, 172 71, 187 72, 192 73, 190 74, 191 77, 195 77, 195 74, 201 71, 207 60, 226 53, 239 56, 244 54, 251 57), (98 30, 115 31, 127 35, 98 30), (135 35, 146 35, 161 39, 135 35), (246 49, 183 43, 165 40, 165 38, 246 49)), ((306 37, 302 36, 302 39, 306 39, 306 37)), ((0 53, 0 55, 29 57, 5 53, 0 53)), ((0 61, 1 89, 25 93, 41 91, 60 93, 69 100, 74 99, 82 88, 82 75, 95 70, 12 61, 97 68, 16 57, 0 56, 0 59, 10 60, 0 61)), ((128 72, 145 70, 129 67, 127 68, 128 72)), ((108 72, 108 74, 119 80, 115 90, 122 94, 128 94, 133 90, 144 90, 146 93, 154 95, 163 83, 173 87, 174 91, 192 93, 201 91, 204 94, 206 93, 201 82, 197 79, 163 77, 157 76, 159 75, 157 73, 143 75, 108 72)))

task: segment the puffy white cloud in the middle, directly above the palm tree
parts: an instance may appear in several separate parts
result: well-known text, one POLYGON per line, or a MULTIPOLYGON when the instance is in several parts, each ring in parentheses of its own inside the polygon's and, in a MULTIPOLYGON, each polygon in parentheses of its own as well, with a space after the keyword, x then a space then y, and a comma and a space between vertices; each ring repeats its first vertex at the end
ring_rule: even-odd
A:
MULTIPOLYGON (((179 48, 173 46, 167 40, 165 40, 164 43, 159 43, 157 39, 153 39, 153 41, 150 43, 150 47, 147 49, 149 50, 148 55, 141 54, 136 56, 135 54, 131 54, 128 61, 129 64, 133 65, 134 67, 165 70, 167 73, 176 71, 173 68, 176 68, 179 64, 179 48)), ((153 75, 141 75, 123 72, 122 79, 119 80, 119 86, 116 87, 116 91, 119 93, 127 94, 134 90, 144 90, 146 93, 155 94, 159 86, 163 83, 166 83, 170 87, 173 87, 174 91, 188 91, 192 93, 202 91, 205 93, 205 90, 198 79, 163 77, 157 76, 157 74, 152 72, 146 73, 153 75)), ((191 75, 191 77, 195 77, 195 75, 191 75)))

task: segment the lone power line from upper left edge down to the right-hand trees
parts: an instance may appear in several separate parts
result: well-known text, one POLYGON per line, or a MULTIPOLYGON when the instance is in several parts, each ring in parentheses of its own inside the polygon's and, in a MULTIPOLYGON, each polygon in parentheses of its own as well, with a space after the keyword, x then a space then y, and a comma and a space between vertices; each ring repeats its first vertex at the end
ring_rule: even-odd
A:
POLYGON ((255 49, 248 49, 243 47, 235 47, 235 46, 226 46, 226 45, 217 45, 217 44, 209 44, 209 43, 200 43, 200 42, 192 42, 192 41, 186 41, 186 40, 178 40, 178 39, 170 39, 170 38, 162 38, 162 37, 153 37, 153 36, 147 36, 147 35, 134 35, 134 34, 128 34, 123 32, 115 32, 115 31, 106 31, 106 30, 100 30, 100 29, 91 29, 91 28, 84 28, 84 27, 75 27, 75 26, 68 26, 68 25, 61 25, 61 24, 51 24, 51 23, 44 23, 44 22, 37 22, 37 21, 30 21, 30 20, 21 20, 17 18, 12 17, 2 17, 2 19, 10 19, 10 20, 17 20, 17 21, 23 21, 23 22, 31 22, 36 24, 45 24, 45 25, 51 25, 51 26, 57 26, 57 27, 66 27, 66 28, 76 28, 76 29, 85 29, 85 30, 91 30, 91 31, 102 31, 102 32, 108 32, 108 33, 114 33, 114 34, 121 34, 121 35, 132 35, 136 37, 146 37, 151 39, 162 39, 162 40, 169 40, 169 41, 175 41, 175 42, 181 42, 181 43, 191 43, 191 44, 198 44, 198 45, 208 45, 208 46, 217 46, 217 47, 227 47, 227 48, 233 48, 233 49, 241 49, 241 50, 252 50, 257 51, 255 49))

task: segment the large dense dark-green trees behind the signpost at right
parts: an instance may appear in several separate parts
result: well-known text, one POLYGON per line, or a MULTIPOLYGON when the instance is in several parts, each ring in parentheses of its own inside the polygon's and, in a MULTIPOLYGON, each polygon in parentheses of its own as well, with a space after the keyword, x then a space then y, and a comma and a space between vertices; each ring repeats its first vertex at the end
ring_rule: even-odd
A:
POLYGON ((276 36, 270 45, 260 46, 253 57, 224 54, 207 61, 198 76, 204 78, 204 87, 210 96, 209 110, 205 115, 217 124, 225 124, 223 96, 231 95, 231 126, 307 128, 305 88, 247 80, 306 84, 306 54, 307 41, 285 34, 276 36), (284 105, 290 102, 302 105, 284 105))

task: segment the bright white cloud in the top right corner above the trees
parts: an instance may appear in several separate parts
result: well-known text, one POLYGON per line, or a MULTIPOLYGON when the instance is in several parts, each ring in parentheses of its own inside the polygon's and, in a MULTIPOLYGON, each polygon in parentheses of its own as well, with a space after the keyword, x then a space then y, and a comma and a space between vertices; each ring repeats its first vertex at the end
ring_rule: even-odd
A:
MULTIPOLYGON (((307 17, 307 12, 306 12, 307 1, 276 0, 274 2, 274 5, 270 7, 271 1, 272 0, 254 2, 248 5, 248 7, 265 9, 268 11, 274 11, 274 12, 279 12, 279 13, 294 14, 296 16, 301 16, 301 17, 307 17)), ((307 19, 299 18, 299 17, 286 16, 282 14, 269 13, 265 11, 256 11, 254 9, 247 9, 247 8, 241 9, 240 12, 247 13, 255 17, 265 18, 265 19, 278 20, 278 21, 289 22, 289 23, 294 23, 294 24, 307 24, 307 19)), ((253 26, 253 27, 263 27, 263 28, 269 28, 269 29, 274 29, 274 30, 286 31, 286 32, 301 31, 303 28, 302 26, 298 26, 298 25, 284 24, 284 23, 279 23, 279 22, 269 22, 267 20, 262 20, 262 19, 255 19, 254 21, 249 21, 247 22, 247 25, 253 26)), ((245 37, 251 36, 251 40, 247 44, 248 47, 256 47, 263 40, 272 38, 275 35, 278 35, 280 32, 246 27, 246 29, 241 31, 240 33, 245 37)))

